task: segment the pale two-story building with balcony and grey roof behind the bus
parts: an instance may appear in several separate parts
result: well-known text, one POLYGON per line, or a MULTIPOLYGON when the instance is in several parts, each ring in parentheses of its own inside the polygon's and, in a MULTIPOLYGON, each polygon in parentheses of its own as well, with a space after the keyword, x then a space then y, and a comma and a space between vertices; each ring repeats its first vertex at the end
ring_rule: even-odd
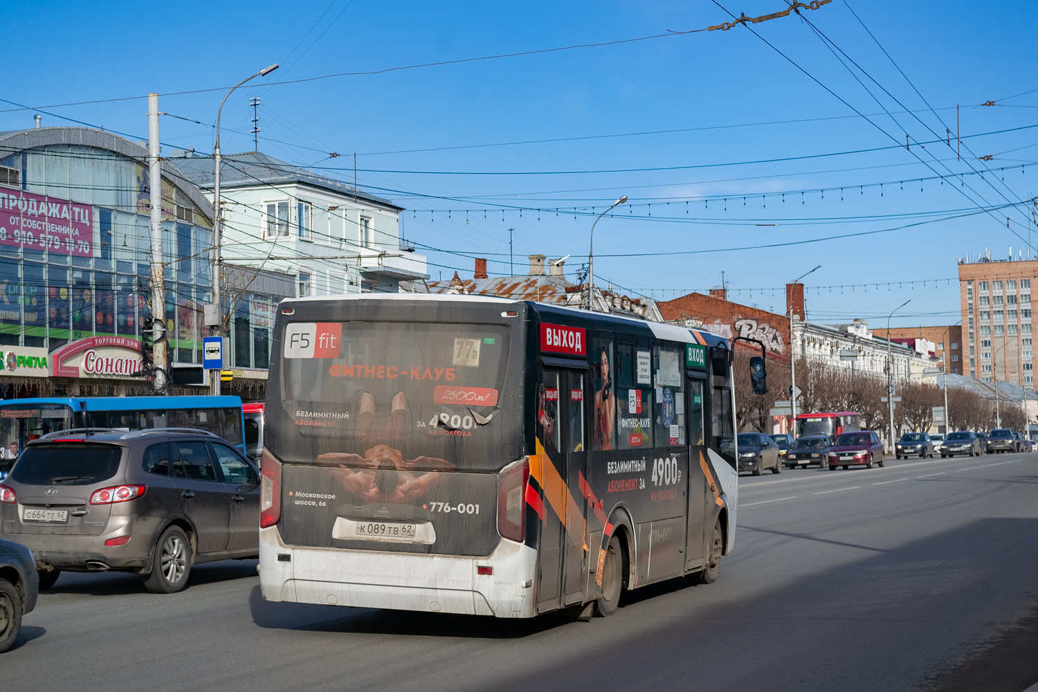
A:
MULTIPOLYGON (((213 198, 213 158, 173 149, 184 176, 213 198)), ((401 241, 402 207, 260 151, 223 157, 222 258, 296 277, 297 296, 398 293, 429 278, 401 241)))

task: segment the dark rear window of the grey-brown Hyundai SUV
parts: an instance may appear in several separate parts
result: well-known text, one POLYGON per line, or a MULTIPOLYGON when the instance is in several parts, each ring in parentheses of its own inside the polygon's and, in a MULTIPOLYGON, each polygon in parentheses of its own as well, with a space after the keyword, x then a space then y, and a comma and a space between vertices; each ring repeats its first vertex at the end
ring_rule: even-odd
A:
POLYGON ((121 458, 121 447, 107 444, 30 445, 10 477, 26 486, 89 486, 114 476, 121 458))

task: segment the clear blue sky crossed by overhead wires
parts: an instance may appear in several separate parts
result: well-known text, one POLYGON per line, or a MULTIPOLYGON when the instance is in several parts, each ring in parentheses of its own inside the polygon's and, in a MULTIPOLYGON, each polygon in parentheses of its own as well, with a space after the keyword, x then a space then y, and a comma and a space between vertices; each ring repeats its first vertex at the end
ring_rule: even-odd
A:
MULTIPOLYGON (((785 7, 783 0, 721 4, 736 16, 749 17, 785 7)), ((822 265, 808 281, 812 319, 839 322, 865 316, 879 326, 877 315, 911 298, 906 316, 895 324, 955 323, 957 258, 976 256, 985 248, 992 256, 1005 257, 1010 246, 1014 254, 1020 249, 1026 253, 1031 234, 1038 246, 1038 233, 1031 233, 1033 225, 1028 228, 1031 211, 1026 205, 934 221, 976 212, 977 203, 1001 205, 1007 199, 1018 202, 1038 194, 1038 166, 1025 172, 1020 168, 1038 161, 1038 128, 983 135, 1038 123, 1038 91, 1009 99, 1038 89, 1033 39, 1038 6, 863 0, 850 0, 848 5, 834 0, 816 11, 805 10, 804 16, 882 88, 856 70, 855 78, 837 55, 848 59, 796 17, 753 26, 811 77, 749 30, 736 27, 375 76, 270 84, 649 36, 729 20, 713 2, 508 7, 371 0, 159 2, 146 10, 129 2, 106 3, 103 8, 42 2, 16 3, 4 10, 6 34, 13 43, 5 54, 0 98, 50 106, 143 96, 148 91, 211 89, 233 85, 279 62, 279 71, 240 89, 227 102, 225 153, 252 149, 248 98, 262 95, 261 150, 328 167, 329 174, 349 178, 356 151, 361 186, 408 210, 493 210, 499 204, 552 210, 540 215, 524 211, 521 217, 509 211, 503 220, 499 210, 486 218, 482 212, 469 212, 467 223, 464 212, 452 212, 448 218, 446 212, 408 211, 405 233, 429 255, 433 278, 441 271, 449 277, 456 268, 463 276, 470 275, 472 261, 421 245, 483 255, 490 258, 492 274, 508 273, 510 226, 516 229, 517 269, 525 266, 526 254, 543 252, 572 254, 567 262, 572 270, 579 255, 586 257, 592 219, 579 214, 574 219, 565 212, 556 216, 554 209, 601 211, 627 194, 634 206, 622 207, 596 229, 595 273, 631 293, 667 299, 715 285, 723 272, 730 288, 757 289, 733 293, 733 299, 782 311, 782 286, 822 265), (850 8, 936 114, 926 109, 850 8), (919 111, 922 123, 912 115, 896 113, 902 108, 883 88, 919 111), (989 100, 998 104, 979 106, 989 100), (956 161, 954 149, 943 143, 926 144, 925 149, 919 144, 934 139, 927 128, 944 137, 947 124, 954 137, 956 104, 961 105, 961 134, 971 136, 964 140, 963 161, 956 161), (674 130, 685 132, 632 134, 674 130), (912 142, 907 150, 901 146, 818 156, 903 143, 906 132, 912 142), (631 136, 471 146, 599 135, 631 136), (413 151, 431 148, 438 150, 413 151), (409 151, 382 154, 402 150, 409 151), (333 151, 344 156, 329 160, 333 151), (987 155, 993 160, 977 161, 987 155), (815 158, 717 165, 809 156, 815 158), (682 166, 690 168, 675 168, 682 166), (982 181, 968 174, 962 183, 944 185, 939 179, 924 181, 922 186, 919 182, 937 173, 950 175, 949 171, 972 173, 972 168, 983 170, 983 166, 996 175, 985 172, 982 181), (671 169, 430 173, 636 168, 671 169), (386 172, 405 170, 425 172, 386 172), (879 183, 885 184, 882 196, 879 183), (827 189, 824 199, 818 192, 802 196, 798 192, 818 188, 827 189), (761 197, 784 191, 792 191, 785 201, 781 195, 761 197), (713 198, 704 203, 704 196, 713 198), (686 205, 686 200, 692 201, 686 205), (650 213, 652 219, 647 218, 650 213), (639 256, 828 238, 920 221, 928 223, 803 245, 639 256), (777 225, 755 225, 759 223, 777 225), (610 254, 628 256, 605 256, 610 254), (878 289, 812 287, 912 279, 952 281, 878 289), (773 295, 772 288, 776 288, 773 295)), ((163 111, 207 124, 164 117, 162 140, 211 151, 211 126, 222 95, 219 90, 164 95, 163 111)), ((0 104, 0 110, 11 108, 0 104)), ((134 135, 146 133, 143 99, 43 110, 134 135)), ((44 122, 65 123, 52 115, 45 115, 44 122)), ((0 130, 31 123, 31 111, 0 113, 0 130)))

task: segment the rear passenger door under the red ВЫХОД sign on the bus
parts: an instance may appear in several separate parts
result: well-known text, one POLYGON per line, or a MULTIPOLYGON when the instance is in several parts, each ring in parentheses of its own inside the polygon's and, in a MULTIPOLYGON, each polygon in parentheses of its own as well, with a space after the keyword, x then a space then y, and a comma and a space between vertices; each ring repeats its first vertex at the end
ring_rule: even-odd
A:
POLYGON ((586 573, 584 500, 586 475, 584 385, 579 370, 544 368, 538 408, 538 439, 552 468, 543 473, 538 609, 553 610, 583 599, 586 573))

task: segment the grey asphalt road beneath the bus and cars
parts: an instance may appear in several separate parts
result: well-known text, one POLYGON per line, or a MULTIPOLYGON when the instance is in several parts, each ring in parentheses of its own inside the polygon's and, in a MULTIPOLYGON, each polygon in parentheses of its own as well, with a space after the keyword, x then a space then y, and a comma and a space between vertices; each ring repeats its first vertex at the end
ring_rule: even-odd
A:
MULTIPOLYGON (((0 655, 0 681, 48 692, 927 690, 1034 612, 1038 453, 785 470, 743 477, 740 496, 715 584, 648 586, 590 622, 267 603, 254 560, 198 565, 172 596, 129 575, 64 574, 0 655)), ((1027 684, 1028 671, 996 671, 1003 687, 985 689, 1021 691, 1038 682, 1034 665, 1027 684)))

